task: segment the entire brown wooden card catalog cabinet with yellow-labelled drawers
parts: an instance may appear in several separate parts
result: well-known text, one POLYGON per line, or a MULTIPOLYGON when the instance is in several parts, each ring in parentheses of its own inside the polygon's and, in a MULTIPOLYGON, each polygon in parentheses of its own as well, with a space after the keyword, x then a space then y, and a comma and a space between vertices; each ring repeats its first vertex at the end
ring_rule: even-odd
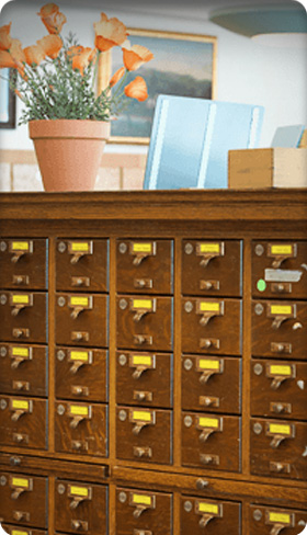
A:
POLYGON ((303 532, 306 201, 0 194, 8 534, 303 532))

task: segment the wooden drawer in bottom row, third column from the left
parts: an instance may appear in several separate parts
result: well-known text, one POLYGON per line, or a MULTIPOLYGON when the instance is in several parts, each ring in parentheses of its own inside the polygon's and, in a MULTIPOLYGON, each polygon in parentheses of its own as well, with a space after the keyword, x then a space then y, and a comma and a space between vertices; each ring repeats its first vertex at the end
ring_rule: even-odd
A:
POLYGON ((172 496, 116 489, 116 535, 172 535, 172 496))

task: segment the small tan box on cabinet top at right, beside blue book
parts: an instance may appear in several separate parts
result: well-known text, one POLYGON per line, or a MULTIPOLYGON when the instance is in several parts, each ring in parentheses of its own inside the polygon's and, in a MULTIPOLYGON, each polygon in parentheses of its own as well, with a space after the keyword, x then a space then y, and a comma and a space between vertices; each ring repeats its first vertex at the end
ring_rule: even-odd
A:
POLYGON ((228 187, 307 187, 307 149, 229 150, 228 187))

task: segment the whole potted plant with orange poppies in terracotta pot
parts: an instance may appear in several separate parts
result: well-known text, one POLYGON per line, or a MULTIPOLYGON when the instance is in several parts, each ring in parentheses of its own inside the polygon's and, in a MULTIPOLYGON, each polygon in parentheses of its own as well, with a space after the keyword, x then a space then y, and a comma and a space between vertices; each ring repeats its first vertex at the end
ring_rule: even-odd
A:
POLYGON ((126 98, 148 96, 139 76, 125 86, 127 73, 154 56, 144 46, 130 46, 126 26, 105 13, 93 25, 93 48, 80 45, 71 33, 61 36, 67 20, 55 3, 37 14, 48 34, 32 46, 23 48, 11 36, 12 23, 0 27, 0 68, 16 71, 11 87, 23 102, 20 124, 29 123, 45 190, 92 190, 110 121, 126 98), (100 56, 115 46, 123 50, 123 67, 96 94, 100 56))

